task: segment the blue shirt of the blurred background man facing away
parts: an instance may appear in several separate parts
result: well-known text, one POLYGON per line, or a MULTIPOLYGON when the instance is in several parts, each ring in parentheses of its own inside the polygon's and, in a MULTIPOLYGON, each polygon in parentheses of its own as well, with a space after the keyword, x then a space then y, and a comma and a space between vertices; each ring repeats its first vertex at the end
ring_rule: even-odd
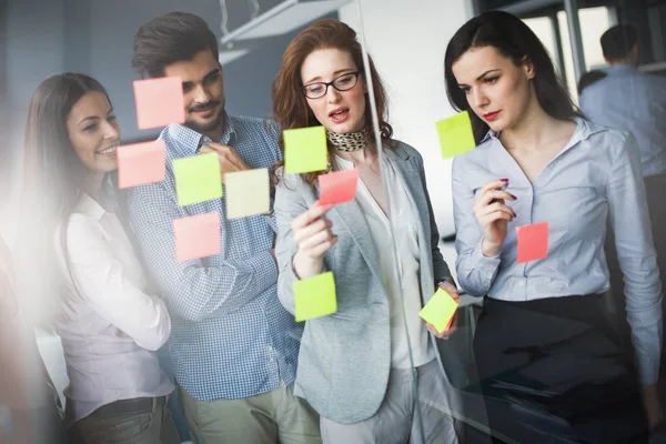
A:
POLYGON ((593 122, 634 134, 644 176, 666 173, 666 78, 610 68, 583 91, 581 109, 593 122))

